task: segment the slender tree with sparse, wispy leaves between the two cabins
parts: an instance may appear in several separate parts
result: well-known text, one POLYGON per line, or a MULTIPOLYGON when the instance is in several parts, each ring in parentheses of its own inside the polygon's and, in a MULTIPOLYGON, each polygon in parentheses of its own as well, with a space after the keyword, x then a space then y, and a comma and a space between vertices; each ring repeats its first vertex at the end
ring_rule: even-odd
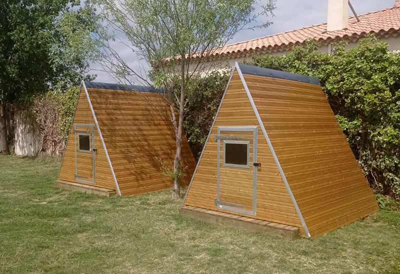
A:
MULTIPOLYGON (((98 0, 103 15, 114 29, 116 41, 126 45, 148 67, 150 79, 157 79, 167 90, 176 138, 173 173, 179 174, 181 139, 187 82, 197 73, 217 67, 212 54, 244 28, 270 24, 275 0, 98 0), (256 24, 262 18, 263 23, 256 24), (119 39, 119 40, 118 40, 119 39), (180 80, 174 92, 173 79, 180 80), (174 112, 174 101, 178 113, 174 112)), ((151 84, 140 69, 130 65, 119 52, 108 46, 103 66, 120 80, 151 84)), ((146 66, 146 65, 144 65, 146 66)), ((179 198, 179 178, 173 177, 172 198, 179 198)))

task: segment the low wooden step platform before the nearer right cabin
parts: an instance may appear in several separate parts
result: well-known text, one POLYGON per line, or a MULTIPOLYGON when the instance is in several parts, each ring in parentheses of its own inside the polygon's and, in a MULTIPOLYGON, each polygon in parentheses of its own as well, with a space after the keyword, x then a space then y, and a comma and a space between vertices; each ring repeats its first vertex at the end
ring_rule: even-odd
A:
POLYGON ((298 227, 295 226, 207 210, 194 206, 180 207, 179 214, 213 224, 225 225, 253 232, 262 232, 285 239, 294 239, 298 236, 298 227))

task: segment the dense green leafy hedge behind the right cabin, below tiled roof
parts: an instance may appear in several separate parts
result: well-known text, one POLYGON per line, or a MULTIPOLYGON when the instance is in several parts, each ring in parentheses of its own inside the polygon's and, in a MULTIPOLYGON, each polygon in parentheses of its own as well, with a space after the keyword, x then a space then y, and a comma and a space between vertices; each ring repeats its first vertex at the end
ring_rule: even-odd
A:
POLYGON ((317 51, 308 41, 283 56, 254 56, 253 64, 316 76, 375 192, 400 198, 400 54, 369 35, 357 47, 317 51))

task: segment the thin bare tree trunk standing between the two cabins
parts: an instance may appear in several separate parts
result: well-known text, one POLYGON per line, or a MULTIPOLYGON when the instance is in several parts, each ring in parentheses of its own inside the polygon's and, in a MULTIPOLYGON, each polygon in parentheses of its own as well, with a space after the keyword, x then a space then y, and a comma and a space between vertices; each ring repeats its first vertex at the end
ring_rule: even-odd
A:
POLYGON ((175 159, 173 160, 173 172, 175 173, 175 177, 173 178, 173 186, 172 186, 172 199, 179 199, 179 177, 177 176, 179 172, 180 165, 180 152, 181 152, 181 144, 182 144, 182 133, 183 133, 183 108, 184 108, 184 86, 185 86, 185 78, 184 78, 184 68, 185 68, 185 56, 182 54, 180 61, 180 99, 179 99, 179 118, 178 118, 178 130, 175 134, 176 137, 176 154, 175 159))

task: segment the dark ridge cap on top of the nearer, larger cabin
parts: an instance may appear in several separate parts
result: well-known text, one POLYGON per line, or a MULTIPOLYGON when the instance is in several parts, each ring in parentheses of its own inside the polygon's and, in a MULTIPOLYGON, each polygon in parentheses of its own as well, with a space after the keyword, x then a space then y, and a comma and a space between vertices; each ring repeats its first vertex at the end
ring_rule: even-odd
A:
POLYGON ((320 85, 317 77, 238 63, 241 73, 320 85))

